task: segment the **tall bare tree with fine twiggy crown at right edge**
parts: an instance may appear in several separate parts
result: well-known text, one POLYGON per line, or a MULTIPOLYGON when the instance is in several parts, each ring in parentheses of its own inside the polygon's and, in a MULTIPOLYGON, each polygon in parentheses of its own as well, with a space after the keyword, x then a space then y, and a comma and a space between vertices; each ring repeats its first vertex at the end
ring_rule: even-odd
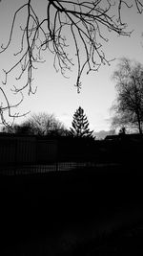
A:
POLYGON ((142 133, 143 126, 143 65, 128 58, 121 58, 113 73, 117 99, 112 105, 115 114, 112 127, 137 127, 142 133))

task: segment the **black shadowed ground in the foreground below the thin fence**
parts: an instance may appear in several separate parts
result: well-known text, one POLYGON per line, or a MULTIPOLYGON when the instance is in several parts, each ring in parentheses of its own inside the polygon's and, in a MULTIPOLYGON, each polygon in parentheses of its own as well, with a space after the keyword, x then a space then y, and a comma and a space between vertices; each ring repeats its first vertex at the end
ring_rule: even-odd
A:
POLYGON ((0 255, 143 254, 141 170, 0 176, 0 255))

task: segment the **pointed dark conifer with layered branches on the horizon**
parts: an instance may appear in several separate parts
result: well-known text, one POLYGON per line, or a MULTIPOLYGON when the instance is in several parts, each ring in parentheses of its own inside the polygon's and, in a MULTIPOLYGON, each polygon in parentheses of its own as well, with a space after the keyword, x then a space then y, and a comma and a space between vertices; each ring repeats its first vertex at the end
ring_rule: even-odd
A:
POLYGON ((87 116, 84 114, 84 109, 79 106, 73 115, 72 128, 70 134, 73 137, 92 137, 92 132, 89 128, 87 116))

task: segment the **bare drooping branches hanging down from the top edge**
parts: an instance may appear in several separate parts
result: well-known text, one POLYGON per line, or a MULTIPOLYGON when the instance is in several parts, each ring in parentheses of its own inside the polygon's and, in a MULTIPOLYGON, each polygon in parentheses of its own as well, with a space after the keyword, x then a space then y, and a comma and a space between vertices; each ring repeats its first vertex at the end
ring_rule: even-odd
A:
POLYGON ((12 53, 14 54, 12 55, 14 56, 12 66, 8 70, 4 70, 5 81, 3 83, 8 83, 9 75, 14 70, 16 81, 24 78, 24 81, 18 82, 18 85, 15 81, 15 85, 12 87, 14 93, 22 96, 21 101, 15 105, 10 103, 8 91, 5 90, 6 86, 0 86, 3 99, 0 116, 5 125, 7 120, 4 113, 8 113, 10 117, 19 117, 19 113, 12 113, 11 109, 15 109, 23 101, 22 92, 26 88, 28 88, 29 94, 35 91, 32 85, 33 70, 37 67, 37 63, 43 62, 43 52, 47 50, 53 54, 54 68, 56 71, 60 70, 64 76, 66 76, 67 70, 71 70, 74 62, 77 62, 75 84, 79 91, 80 78, 85 69, 88 74, 92 70, 98 70, 101 64, 110 64, 103 49, 103 42, 108 41, 109 33, 131 35, 131 32, 127 31, 127 24, 122 20, 122 8, 130 9, 134 5, 137 12, 143 12, 143 4, 140 0, 45 0, 42 3, 37 1, 39 5, 45 4, 46 12, 41 16, 38 8, 36 10, 35 3, 36 1, 27 0, 15 10, 8 42, 6 45, 1 44, 0 53, 3 53, 9 50, 10 43, 14 38, 18 49, 17 52, 12 53), (22 24, 19 24, 20 30, 15 31, 16 22, 19 22, 17 21, 19 14, 23 17, 22 24), (18 33, 18 36, 14 36, 14 33, 15 35, 18 33), (73 58, 70 57, 69 45, 74 47, 73 58), (20 71, 18 75, 17 70, 20 71), (22 85, 20 86, 20 84, 22 85))

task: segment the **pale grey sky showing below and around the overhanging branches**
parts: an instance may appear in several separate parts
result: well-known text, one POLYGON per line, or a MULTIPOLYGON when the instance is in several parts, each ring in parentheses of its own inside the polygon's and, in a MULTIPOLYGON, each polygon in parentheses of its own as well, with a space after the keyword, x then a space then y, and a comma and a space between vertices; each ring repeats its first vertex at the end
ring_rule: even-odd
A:
MULTIPOLYGON (((20 2, 25 1, 19 0, 19 5, 20 2)), ((43 12, 42 8, 44 9, 44 3, 46 2, 45 0, 40 1, 40 13, 43 12)), ((0 3, 0 44, 7 42, 12 17, 11 12, 13 13, 16 7, 16 0, 2 0, 0 3)), ((111 34, 109 42, 104 45, 106 56, 108 59, 133 58, 143 63, 143 38, 141 37, 143 14, 139 15, 135 10, 126 9, 123 11, 123 17, 125 22, 129 24, 128 30, 133 30, 133 35, 131 37, 123 37, 111 34)), ((10 51, 0 55, 1 80, 3 79, 2 69, 7 70, 7 67, 10 67, 12 63, 12 49, 16 47, 17 40, 18 34, 15 29, 10 51)), ((112 72, 118 60, 112 61, 110 67, 108 65, 102 66, 98 72, 92 72, 90 75, 86 75, 85 72, 82 76, 81 92, 77 94, 76 87, 73 85, 75 83, 76 70, 72 70, 70 79, 65 79, 60 72, 55 72, 52 66, 52 56, 47 53, 45 59, 47 61, 44 64, 40 64, 34 74, 34 86, 37 86, 36 94, 28 96, 25 93, 25 100, 16 111, 27 112, 31 110, 31 114, 38 112, 53 113, 69 128, 72 124, 73 113, 80 105, 84 108, 90 127, 94 131, 110 129, 110 107, 115 99, 115 84, 112 81, 112 72)), ((11 82, 13 81, 10 77, 7 85, 8 93, 10 93, 9 86, 11 82)), ((29 118, 30 115, 25 119, 29 118)), ((23 119, 19 119, 18 122, 21 121, 23 119)))

